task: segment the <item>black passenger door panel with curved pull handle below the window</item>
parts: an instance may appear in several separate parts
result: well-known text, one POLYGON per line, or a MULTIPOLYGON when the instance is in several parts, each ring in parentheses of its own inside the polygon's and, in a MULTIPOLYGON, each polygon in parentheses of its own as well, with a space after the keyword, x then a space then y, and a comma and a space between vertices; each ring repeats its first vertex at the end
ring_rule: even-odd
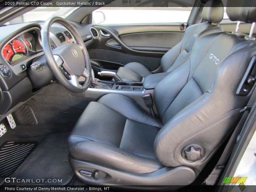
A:
MULTIPOLYGON (((153 71, 159 68, 165 52, 179 43, 184 35, 180 23, 90 25, 97 37, 88 48, 92 60, 100 60, 101 67, 112 68, 110 62, 125 65, 139 62, 153 71), (108 61, 108 62, 106 62, 108 61)), ((116 68, 113 66, 112 69, 116 68)))

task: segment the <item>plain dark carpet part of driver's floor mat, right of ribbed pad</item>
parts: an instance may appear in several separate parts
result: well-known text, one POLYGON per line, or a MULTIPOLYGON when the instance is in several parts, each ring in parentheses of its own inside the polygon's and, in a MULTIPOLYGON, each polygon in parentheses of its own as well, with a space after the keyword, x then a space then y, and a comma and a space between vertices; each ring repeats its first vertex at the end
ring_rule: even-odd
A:
POLYGON ((32 185, 66 185, 74 175, 68 163, 68 136, 48 135, 11 176, 36 182, 32 185))

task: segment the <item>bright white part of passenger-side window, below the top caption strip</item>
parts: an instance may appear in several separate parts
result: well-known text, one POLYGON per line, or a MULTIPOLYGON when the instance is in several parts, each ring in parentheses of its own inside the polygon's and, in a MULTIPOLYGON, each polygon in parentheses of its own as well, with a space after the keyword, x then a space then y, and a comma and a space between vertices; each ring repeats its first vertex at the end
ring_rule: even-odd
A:
POLYGON ((136 24, 187 22, 191 10, 191 7, 104 7, 92 12, 92 23, 136 24), (103 19, 104 17, 105 19, 103 19))

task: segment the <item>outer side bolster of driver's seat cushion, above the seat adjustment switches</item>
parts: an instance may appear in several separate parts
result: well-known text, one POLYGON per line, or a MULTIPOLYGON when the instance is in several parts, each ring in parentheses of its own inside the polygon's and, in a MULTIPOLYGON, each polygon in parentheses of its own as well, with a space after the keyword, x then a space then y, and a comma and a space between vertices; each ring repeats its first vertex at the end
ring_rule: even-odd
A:
POLYGON ((77 142, 69 147, 69 153, 79 160, 91 161, 128 172, 150 173, 163 167, 158 160, 134 155, 95 141, 77 142))

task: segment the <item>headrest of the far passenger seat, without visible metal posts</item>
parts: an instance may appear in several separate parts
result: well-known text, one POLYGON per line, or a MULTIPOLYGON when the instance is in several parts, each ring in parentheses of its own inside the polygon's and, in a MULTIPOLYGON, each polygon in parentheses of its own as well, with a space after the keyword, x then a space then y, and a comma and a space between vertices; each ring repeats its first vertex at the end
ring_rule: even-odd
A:
POLYGON ((223 3, 221 0, 209 0, 203 8, 203 18, 211 23, 220 23, 224 15, 223 3))

